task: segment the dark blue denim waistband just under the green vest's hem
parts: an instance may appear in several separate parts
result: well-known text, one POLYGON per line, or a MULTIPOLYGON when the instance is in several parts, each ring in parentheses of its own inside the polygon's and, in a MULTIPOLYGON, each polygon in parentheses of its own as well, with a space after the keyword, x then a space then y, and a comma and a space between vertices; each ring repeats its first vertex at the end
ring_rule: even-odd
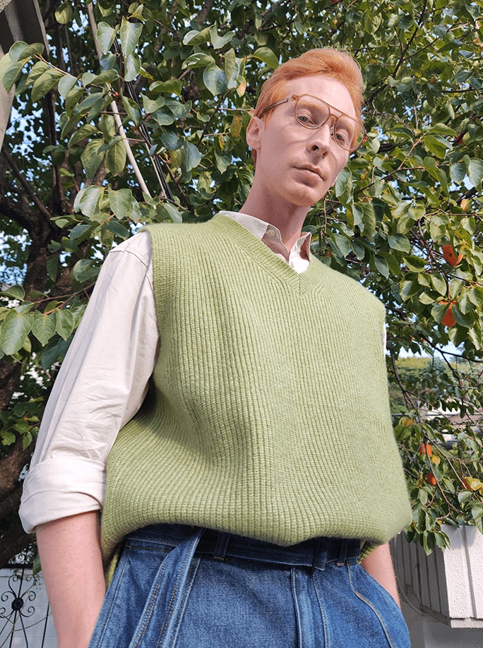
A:
MULTIPOLYGON (((177 546, 199 532, 199 527, 184 524, 152 524, 129 534, 127 544, 142 542, 149 546, 177 546)), ((196 554, 217 560, 239 558, 259 563, 293 565, 323 570, 327 564, 356 563, 361 543, 358 539, 320 537, 292 546, 280 546, 235 534, 203 529, 196 554)))

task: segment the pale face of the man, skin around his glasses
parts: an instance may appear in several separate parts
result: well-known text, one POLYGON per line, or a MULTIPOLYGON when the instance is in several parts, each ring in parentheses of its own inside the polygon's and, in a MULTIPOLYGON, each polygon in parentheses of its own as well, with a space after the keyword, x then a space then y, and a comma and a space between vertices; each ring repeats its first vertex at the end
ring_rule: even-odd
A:
MULTIPOLYGON (((287 97, 314 95, 334 107, 336 116, 345 113, 357 119, 349 91, 330 76, 293 79, 285 90, 287 97)), ((310 207, 333 186, 349 152, 330 135, 329 123, 316 130, 297 124, 293 101, 271 109, 269 115, 268 123, 258 119, 253 137, 248 136, 257 151, 256 179, 275 203, 310 207)))

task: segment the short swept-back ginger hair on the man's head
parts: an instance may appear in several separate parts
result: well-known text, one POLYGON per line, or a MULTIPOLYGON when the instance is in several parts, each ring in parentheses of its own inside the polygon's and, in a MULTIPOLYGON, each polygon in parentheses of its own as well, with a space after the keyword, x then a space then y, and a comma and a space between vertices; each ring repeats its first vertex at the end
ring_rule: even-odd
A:
MULTIPOLYGON (((295 59, 285 61, 277 68, 272 76, 263 83, 252 117, 258 117, 267 106, 285 98, 287 81, 316 74, 330 76, 345 85, 354 104, 355 112, 357 116, 360 116, 364 83, 359 65, 347 52, 332 47, 323 47, 310 49, 295 59)), ((270 111, 267 112, 261 119, 268 121, 270 114, 270 111)), ((256 151, 252 150, 251 155, 256 162, 256 151)))

